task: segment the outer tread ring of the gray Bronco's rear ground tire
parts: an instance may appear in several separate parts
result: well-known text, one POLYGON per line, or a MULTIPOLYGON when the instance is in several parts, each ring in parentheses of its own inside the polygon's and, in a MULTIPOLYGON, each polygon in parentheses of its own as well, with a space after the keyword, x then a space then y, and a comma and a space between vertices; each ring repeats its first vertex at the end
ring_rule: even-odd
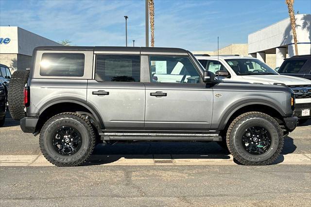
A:
MULTIPOLYGON (((67 117, 67 116, 66 116, 67 117)), ((67 117, 68 118, 68 117, 67 117)), ((52 123, 53 123, 52 122, 52 123)), ((40 145, 40 149, 41 149, 41 152, 43 154, 43 156, 49 161, 51 162, 53 165, 55 166, 58 166, 58 167, 73 167, 73 166, 79 166, 81 165, 82 163, 86 162, 86 160, 89 158, 89 156, 93 153, 93 150, 95 148, 95 144, 96 144, 96 136, 95 136, 95 133, 94 133, 94 129, 93 129, 93 126, 91 124, 90 121, 88 121, 86 118, 84 118, 83 116, 77 114, 77 113, 73 113, 73 112, 65 112, 65 113, 61 113, 61 114, 57 114, 55 116, 53 116, 51 119, 49 119, 47 122, 46 122, 42 129, 41 129, 41 132, 40 132, 40 138, 39 138, 39 145, 40 145), (44 148, 44 145, 43 145, 43 133, 44 131, 47 130, 47 128, 51 125, 47 125, 46 123, 48 123, 50 120, 54 120, 53 122, 59 120, 59 118, 61 118, 61 116, 63 115, 73 115, 73 116, 76 116, 76 117, 79 117, 81 118, 82 120, 84 120, 86 122, 86 127, 87 129, 90 131, 90 134, 88 135, 89 137, 89 146, 88 146, 88 149, 86 150, 86 153, 85 155, 83 155, 79 160, 77 161, 74 161, 74 162, 70 162, 70 163, 61 163, 61 162, 57 162, 55 161, 54 159, 52 159, 50 157, 50 155, 47 154, 45 148, 44 148)))

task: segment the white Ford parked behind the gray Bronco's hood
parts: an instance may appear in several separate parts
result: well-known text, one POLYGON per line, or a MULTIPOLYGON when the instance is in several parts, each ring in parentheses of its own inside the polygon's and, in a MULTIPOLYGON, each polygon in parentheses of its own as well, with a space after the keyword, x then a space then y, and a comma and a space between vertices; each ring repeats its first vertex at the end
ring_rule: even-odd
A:
POLYGON ((295 116, 299 123, 311 118, 311 81, 300 77, 279 75, 257 58, 236 55, 196 56, 204 69, 225 81, 244 81, 257 84, 285 84, 296 96, 295 116))

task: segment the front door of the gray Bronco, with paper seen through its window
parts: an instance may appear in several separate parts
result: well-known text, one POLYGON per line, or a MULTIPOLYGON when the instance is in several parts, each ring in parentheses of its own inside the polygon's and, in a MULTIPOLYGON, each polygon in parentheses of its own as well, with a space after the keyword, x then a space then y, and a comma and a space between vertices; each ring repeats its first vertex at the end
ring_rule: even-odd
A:
POLYGON ((145 130, 206 131, 213 91, 188 56, 149 56, 145 130))

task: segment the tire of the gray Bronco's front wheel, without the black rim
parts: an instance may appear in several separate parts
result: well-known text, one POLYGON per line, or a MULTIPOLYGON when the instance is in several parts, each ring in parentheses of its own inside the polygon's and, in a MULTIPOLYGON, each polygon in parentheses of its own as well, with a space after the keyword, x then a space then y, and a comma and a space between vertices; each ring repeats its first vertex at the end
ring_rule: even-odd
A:
POLYGON ((260 112, 247 112, 234 119, 228 127, 226 142, 229 152, 243 165, 268 165, 280 155, 283 145, 283 132, 275 119, 260 112), (270 133, 271 146, 261 155, 252 155, 242 146, 242 133, 251 126, 262 126, 270 133))

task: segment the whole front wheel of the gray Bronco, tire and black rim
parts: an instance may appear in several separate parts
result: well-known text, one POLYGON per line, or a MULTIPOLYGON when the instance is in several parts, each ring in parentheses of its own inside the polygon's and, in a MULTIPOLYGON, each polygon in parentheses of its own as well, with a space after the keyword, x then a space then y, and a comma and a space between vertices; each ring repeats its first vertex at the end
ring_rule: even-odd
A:
POLYGON ((230 124, 226 142, 229 152, 244 165, 268 165, 280 155, 284 140, 275 119, 260 112, 247 112, 230 124))

